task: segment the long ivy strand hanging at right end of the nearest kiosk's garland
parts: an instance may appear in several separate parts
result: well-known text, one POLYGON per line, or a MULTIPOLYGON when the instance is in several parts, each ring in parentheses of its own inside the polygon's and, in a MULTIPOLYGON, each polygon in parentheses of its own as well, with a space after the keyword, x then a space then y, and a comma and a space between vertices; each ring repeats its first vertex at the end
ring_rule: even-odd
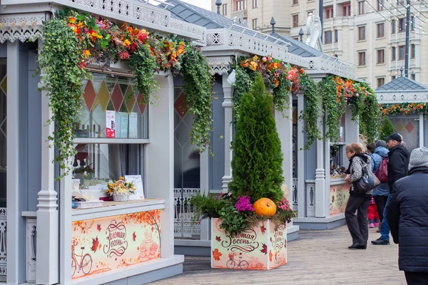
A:
POLYGON ((194 115, 190 142, 198 145, 200 152, 203 152, 210 145, 213 125, 213 77, 208 61, 199 49, 192 46, 185 48, 182 73, 185 100, 188 110, 194 115))

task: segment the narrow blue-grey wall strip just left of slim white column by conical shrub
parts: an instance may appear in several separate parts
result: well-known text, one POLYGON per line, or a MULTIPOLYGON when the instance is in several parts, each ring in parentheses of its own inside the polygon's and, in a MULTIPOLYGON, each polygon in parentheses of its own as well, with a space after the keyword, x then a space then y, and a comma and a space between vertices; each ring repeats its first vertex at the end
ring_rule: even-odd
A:
POLYGON ((225 109, 223 103, 222 77, 215 75, 213 86, 213 133, 211 147, 214 157, 209 159, 209 187, 210 190, 222 190, 222 177, 225 175, 225 109))

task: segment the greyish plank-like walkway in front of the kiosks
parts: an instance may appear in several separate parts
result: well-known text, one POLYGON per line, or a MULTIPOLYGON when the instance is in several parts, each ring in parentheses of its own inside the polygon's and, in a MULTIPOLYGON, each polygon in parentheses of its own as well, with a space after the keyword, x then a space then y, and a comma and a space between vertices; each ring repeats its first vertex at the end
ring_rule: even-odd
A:
MULTIPOLYGON (((398 270, 397 244, 374 246, 376 229, 369 230, 366 250, 350 250, 347 227, 328 231, 300 231, 299 239, 289 242, 288 264, 271 271, 211 269, 208 257, 186 257, 183 274, 153 282, 161 284, 406 284, 398 270)), ((392 239, 391 239, 392 241, 392 239)))

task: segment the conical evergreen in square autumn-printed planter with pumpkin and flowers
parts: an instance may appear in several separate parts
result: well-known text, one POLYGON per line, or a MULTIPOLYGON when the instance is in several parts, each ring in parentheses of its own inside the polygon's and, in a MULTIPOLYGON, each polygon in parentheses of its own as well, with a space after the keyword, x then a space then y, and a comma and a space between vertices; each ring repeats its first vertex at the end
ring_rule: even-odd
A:
POLYGON ((259 73, 240 102, 230 192, 190 202, 200 218, 213 218, 212 267, 272 269, 287 262, 286 227, 295 212, 281 188, 282 152, 272 110, 259 73))

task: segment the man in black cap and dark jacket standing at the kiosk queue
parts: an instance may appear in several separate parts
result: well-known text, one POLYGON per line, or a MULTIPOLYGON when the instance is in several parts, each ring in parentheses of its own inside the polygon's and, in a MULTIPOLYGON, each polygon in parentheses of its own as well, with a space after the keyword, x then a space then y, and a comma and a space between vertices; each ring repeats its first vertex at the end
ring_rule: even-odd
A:
MULTIPOLYGON (((394 192, 394 183, 402 177, 407 176, 409 170, 409 151, 402 145, 402 136, 398 133, 392 133, 389 137, 384 138, 387 141, 388 152, 388 187, 389 195, 387 199, 387 204, 389 199, 391 199, 391 194, 394 192)), ((384 209, 384 217, 382 224, 380 226, 380 237, 372 241, 372 244, 388 245, 389 244, 389 227, 387 222, 387 209, 384 209)))

